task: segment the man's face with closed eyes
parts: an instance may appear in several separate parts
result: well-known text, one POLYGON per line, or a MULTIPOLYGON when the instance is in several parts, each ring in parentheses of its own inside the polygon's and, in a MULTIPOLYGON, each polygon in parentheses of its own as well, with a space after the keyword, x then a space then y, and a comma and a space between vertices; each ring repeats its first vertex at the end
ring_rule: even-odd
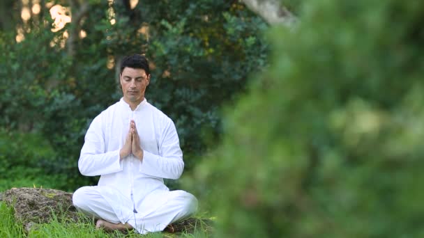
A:
POLYGON ((150 82, 150 75, 142 69, 124 68, 121 81, 123 100, 127 103, 139 104, 144 100, 144 91, 150 82))

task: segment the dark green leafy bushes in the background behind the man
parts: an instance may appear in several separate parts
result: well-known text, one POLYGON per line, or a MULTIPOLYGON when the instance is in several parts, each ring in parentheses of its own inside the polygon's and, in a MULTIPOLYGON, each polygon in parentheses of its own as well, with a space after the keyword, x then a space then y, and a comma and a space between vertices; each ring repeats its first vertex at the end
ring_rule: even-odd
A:
MULTIPOLYGON (((220 106, 266 64, 261 34, 267 26, 239 2, 143 1, 134 9, 124 2, 89 1, 89 14, 78 25, 52 32, 45 6, 38 20, 24 23, 20 3, 7 1, 13 6, 8 24, 15 27, 0 28, 0 127, 35 132, 50 143, 52 167, 40 173, 66 180, 56 189, 96 182, 79 175, 77 159, 91 120, 121 97, 114 67, 123 55, 146 53, 151 60, 146 97, 176 123, 188 170, 206 150, 205 141, 218 141, 220 106), (20 27, 25 40, 16 42, 20 27), (74 35, 70 48, 63 35, 73 29, 84 30, 86 38, 74 35)), ((11 146, 8 153, 14 160, 19 150, 11 146)))

